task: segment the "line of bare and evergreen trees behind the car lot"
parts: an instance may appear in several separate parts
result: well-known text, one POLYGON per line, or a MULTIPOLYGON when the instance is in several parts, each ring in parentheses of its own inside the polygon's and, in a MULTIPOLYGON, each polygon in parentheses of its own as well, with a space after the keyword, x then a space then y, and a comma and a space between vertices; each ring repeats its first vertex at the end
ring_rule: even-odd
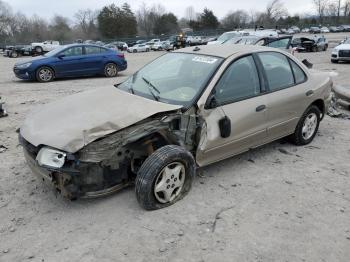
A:
POLYGON ((231 11, 221 20, 208 8, 198 13, 193 7, 187 7, 184 17, 178 19, 160 4, 148 6, 143 3, 133 12, 130 5, 124 3, 107 5, 100 10, 79 10, 72 18, 55 15, 47 21, 39 16, 27 17, 14 12, 8 3, 0 0, 0 43, 151 37, 179 33, 183 28, 202 31, 350 23, 350 0, 310 1, 315 7, 316 15, 313 16, 290 16, 282 0, 272 0, 263 11, 231 11))

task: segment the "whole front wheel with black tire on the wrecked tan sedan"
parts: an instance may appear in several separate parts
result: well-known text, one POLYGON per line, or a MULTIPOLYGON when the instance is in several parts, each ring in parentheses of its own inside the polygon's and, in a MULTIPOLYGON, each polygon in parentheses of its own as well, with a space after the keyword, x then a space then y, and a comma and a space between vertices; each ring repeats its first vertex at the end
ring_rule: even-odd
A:
POLYGON ((137 201, 146 210, 170 206, 189 192, 195 173, 196 165, 190 152, 175 145, 161 147, 138 171, 135 181, 137 201))

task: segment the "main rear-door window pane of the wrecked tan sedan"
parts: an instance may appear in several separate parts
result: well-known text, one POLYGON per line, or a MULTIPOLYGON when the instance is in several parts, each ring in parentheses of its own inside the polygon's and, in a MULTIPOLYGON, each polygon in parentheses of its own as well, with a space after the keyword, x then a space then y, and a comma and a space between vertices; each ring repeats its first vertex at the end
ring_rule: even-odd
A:
POLYGON ((271 91, 294 85, 293 73, 286 56, 275 52, 264 52, 258 55, 271 91))

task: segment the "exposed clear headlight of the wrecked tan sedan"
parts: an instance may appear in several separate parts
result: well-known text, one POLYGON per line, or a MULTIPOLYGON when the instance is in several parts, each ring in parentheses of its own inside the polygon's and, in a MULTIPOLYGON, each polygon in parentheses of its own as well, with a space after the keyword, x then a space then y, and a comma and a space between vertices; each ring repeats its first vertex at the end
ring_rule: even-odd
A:
POLYGON ((56 149, 43 147, 40 149, 36 160, 40 166, 61 168, 64 165, 67 154, 56 149))

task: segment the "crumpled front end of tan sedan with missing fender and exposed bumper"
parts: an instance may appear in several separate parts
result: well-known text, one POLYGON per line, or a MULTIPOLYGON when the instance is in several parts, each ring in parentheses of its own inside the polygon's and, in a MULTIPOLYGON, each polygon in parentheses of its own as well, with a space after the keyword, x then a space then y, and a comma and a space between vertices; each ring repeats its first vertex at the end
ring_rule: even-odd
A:
POLYGON ((21 135, 19 140, 33 173, 64 197, 99 197, 133 184, 145 159, 164 145, 181 145, 194 152, 197 123, 192 113, 155 116, 100 138, 74 154, 34 146, 21 135), (44 150, 47 154, 56 153, 57 158, 51 155, 51 162, 43 158, 44 150), (62 158, 64 163, 60 166, 62 158))

